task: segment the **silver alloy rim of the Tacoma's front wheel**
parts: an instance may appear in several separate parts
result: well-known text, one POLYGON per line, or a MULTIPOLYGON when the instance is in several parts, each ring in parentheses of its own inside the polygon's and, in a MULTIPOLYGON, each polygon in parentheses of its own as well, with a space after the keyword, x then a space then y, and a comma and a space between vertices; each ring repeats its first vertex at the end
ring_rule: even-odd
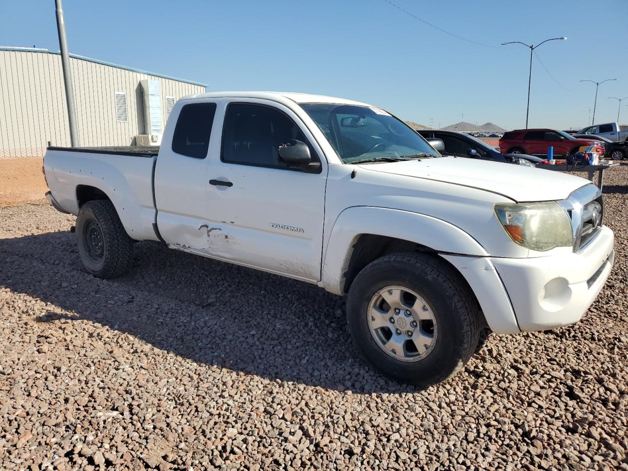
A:
POLYGON ((430 354, 438 329, 426 301, 409 288, 386 286, 369 303, 369 328, 377 345, 396 360, 414 362, 430 354))

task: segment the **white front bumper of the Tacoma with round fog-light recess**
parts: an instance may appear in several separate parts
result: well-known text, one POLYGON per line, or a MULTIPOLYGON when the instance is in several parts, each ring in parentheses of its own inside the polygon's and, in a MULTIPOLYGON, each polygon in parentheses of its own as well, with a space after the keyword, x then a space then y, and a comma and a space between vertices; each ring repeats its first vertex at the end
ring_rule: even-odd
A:
POLYGON ((494 332, 533 332, 582 318, 609 278, 613 242, 612 230, 604 226, 577 253, 524 259, 443 257, 467 279, 494 332))

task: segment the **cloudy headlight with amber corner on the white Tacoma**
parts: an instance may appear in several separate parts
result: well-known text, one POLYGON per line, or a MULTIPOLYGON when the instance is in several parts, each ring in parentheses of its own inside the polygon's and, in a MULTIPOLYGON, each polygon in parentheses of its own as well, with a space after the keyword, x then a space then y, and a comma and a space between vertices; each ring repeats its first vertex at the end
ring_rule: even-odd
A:
POLYGON ((569 215, 556 202, 495 205, 495 214, 520 246, 544 252, 573 244, 569 215))

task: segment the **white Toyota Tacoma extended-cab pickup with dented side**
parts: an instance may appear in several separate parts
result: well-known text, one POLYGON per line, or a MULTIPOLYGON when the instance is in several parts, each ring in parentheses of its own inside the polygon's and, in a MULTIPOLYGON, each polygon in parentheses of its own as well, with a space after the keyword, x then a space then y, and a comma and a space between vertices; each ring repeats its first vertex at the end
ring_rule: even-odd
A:
POLYGON ((193 95, 158 153, 49 148, 44 170, 94 276, 129 269, 134 241, 161 241, 317 284, 347 295, 349 330, 379 371, 420 386, 458 371, 484 326, 577 322, 614 258, 588 180, 443 157, 345 99, 193 95))

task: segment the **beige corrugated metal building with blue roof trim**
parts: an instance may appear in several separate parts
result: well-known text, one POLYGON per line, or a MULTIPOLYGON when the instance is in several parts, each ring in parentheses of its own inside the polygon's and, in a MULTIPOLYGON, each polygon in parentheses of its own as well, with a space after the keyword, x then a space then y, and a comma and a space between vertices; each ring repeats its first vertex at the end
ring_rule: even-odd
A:
MULTIPOLYGON (((207 85, 70 54, 78 145, 156 145, 175 101, 207 85)), ((70 146, 61 56, 0 46, 0 158, 70 146)))

